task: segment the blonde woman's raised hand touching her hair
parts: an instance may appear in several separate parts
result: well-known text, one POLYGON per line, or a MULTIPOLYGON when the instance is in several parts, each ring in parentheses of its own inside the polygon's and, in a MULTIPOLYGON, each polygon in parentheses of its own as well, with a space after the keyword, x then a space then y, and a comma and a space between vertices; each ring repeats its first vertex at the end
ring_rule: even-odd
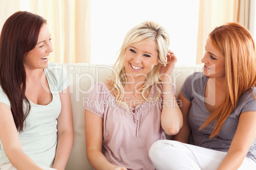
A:
POLYGON ((169 50, 167 54, 167 64, 162 65, 162 68, 159 72, 162 82, 171 82, 171 74, 173 73, 176 62, 176 56, 174 55, 173 51, 169 50))

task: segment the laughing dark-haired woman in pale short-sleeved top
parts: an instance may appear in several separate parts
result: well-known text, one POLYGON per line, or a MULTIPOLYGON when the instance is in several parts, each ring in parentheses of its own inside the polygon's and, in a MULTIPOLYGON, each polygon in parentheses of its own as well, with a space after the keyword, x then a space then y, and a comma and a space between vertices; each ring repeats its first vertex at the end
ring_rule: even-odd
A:
POLYGON ((0 37, 0 169, 62 169, 73 145, 69 82, 48 63, 46 20, 11 15, 0 37))

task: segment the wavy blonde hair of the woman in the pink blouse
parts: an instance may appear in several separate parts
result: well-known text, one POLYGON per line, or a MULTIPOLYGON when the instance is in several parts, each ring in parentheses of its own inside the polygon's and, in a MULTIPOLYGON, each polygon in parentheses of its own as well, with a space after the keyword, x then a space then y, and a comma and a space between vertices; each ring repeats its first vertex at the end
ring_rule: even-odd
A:
MULTIPOLYGON (((164 27, 160 26, 156 22, 145 21, 139 25, 133 27, 129 32, 127 32, 122 47, 120 48, 120 53, 117 58, 117 62, 113 65, 114 72, 112 74, 111 88, 115 89, 115 97, 117 103, 122 107, 129 109, 126 103, 122 102, 124 98, 124 85, 127 82, 125 77, 125 67, 124 67, 124 55, 125 50, 131 44, 134 43, 145 43, 146 41, 155 40, 157 44, 158 53, 158 64, 148 73, 146 83, 139 89, 142 91, 142 96, 146 101, 155 101, 159 98, 159 95, 153 100, 149 100, 145 97, 145 91, 150 88, 154 83, 160 84, 159 70, 162 65, 166 64, 166 57, 169 48, 169 34, 164 27)), ((157 88, 158 91, 159 88, 157 88)))

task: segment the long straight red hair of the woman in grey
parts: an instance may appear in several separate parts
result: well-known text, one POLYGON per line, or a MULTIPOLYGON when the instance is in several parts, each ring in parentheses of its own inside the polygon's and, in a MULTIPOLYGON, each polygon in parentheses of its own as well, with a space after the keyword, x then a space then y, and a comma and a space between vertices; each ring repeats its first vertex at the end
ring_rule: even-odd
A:
POLYGON ((240 96, 248 89, 254 96, 252 87, 256 84, 256 58, 252 35, 238 23, 217 27, 209 37, 215 48, 225 56, 225 99, 200 128, 215 122, 215 129, 210 135, 213 138, 218 135, 225 120, 236 108, 240 96))

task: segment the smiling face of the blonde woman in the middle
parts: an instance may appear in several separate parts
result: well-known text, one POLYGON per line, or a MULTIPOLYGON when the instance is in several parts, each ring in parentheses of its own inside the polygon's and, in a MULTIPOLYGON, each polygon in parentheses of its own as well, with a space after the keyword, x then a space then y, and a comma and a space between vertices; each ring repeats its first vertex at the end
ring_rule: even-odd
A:
POLYGON ((132 77, 146 76, 159 63, 156 41, 140 42, 131 44, 125 50, 125 74, 132 77))

